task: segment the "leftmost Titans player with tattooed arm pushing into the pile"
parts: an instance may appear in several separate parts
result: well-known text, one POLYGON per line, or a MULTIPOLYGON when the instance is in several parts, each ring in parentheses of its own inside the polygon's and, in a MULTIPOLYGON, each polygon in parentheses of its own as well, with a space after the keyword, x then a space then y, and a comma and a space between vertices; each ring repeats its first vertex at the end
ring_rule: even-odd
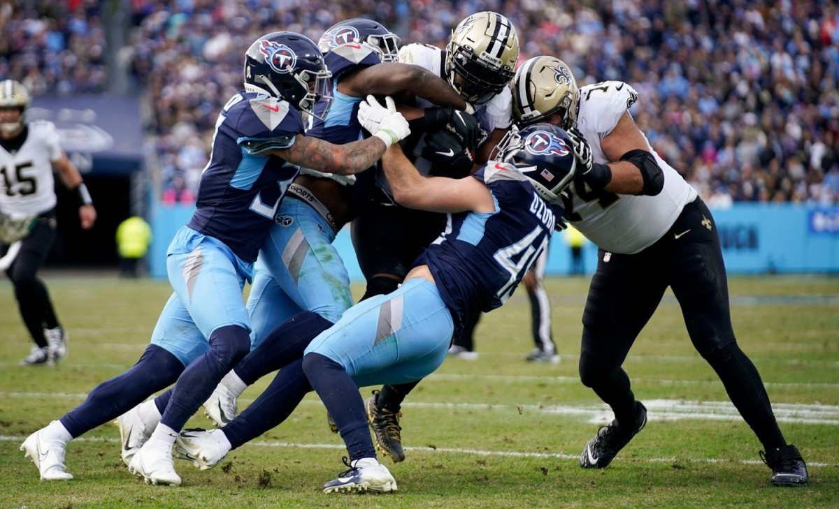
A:
POLYGON ((364 140, 333 145, 304 136, 304 115, 326 113, 326 106, 320 112, 314 106, 331 100, 331 73, 317 45, 298 33, 268 33, 254 41, 243 71, 244 90, 227 101, 216 122, 197 209, 169 245, 175 292, 151 345, 128 372, 100 384, 79 407, 23 442, 42 479, 70 479, 64 465, 68 441, 176 381, 159 424, 128 468, 147 482, 180 485, 171 456, 175 437, 250 351, 243 286, 300 167, 362 172, 409 134, 404 117, 388 109, 364 140))

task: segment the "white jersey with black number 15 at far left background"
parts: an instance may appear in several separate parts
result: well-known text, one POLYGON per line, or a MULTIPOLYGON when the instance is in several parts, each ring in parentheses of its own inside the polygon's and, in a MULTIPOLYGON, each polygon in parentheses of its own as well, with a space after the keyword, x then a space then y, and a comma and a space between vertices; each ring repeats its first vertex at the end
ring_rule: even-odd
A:
POLYGON ((0 147, 0 213, 25 216, 55 208, 55 177, 52 163, 61 157, 55 124, 29 122, 23 146, 13 153, 0 147))

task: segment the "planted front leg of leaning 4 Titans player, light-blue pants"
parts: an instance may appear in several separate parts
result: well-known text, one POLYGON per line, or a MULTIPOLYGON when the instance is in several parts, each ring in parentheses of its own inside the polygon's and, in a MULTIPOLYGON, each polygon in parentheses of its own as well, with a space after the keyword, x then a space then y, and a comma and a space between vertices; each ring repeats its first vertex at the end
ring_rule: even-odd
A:
MULTIPOLYGON (((365 481, 365 460, 378 465, 357 387, 407 383, 433 373, 446 357, 452 332, 451 313, 436 286, 414 279, 352 307, 306 349, 304 372, 335 418, 355 470, 327 483, 325 491, 365 481)), ((379 468, 373 471, 381 473, 379 468)), ((387 477, 366 481, 378 486, 373 489, 395 489, 387 477)))

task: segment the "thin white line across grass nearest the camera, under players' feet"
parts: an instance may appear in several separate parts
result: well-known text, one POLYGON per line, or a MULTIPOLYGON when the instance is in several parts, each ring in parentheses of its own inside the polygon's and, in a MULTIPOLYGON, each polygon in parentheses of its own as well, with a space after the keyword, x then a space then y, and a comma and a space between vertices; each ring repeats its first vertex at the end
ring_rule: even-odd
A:
MULTIPOLYGON (((0 435, 0 442, 23 442, 26 440, 26 437, 23 436, 6 436, 0 435)), ((77 439, 73 439, 76 442, 107 442, 109 444, 120 444, 120 440, 112 439, 112 438, 104 438, 104 437, 79 437, 77 439)), ((293 442, 263 442, 263 441, 256 441, 256 442, 248 442, 243 446, 252 445, 254 447, 268 447, 268 448, 284 448, 284 447, 294 447, 297 449, 345 449, 344 445, 337 445, 337 444, 295 444, 293 442)), ((557 453, 547 453, 547 452, 519 452, 513 450, 479 450, 479 449, 461 449, 456 447, 405 447, 407 451, 415 451, 415 452, 426 452, 431 454, 436 453, 451 453, 451 454, 461 454, 461 455, 479 455, 479 456, 502 456, 502 457, 513 457, 513 458, 557 458, 560 460, 576 460, 580 457, 580 455, 571 455, 564 452, 557 452, 557 453)), ((615 461, 623 461, 623 458, 618 456, 615 458, 615 461)), ((674 463, 679 461, 685 461, 689 463, 732 463, 731 459, 719 459, 719 458, 640 458, 635 457, 633 458, 633 462, 646 462, 646 463, 674 463)), ((743 465, 762 465, 763 461, 759 460, 734 460, 735 463, 740 463, 743 465)), ((839 466, 839 463, 822 463, 821 461, 807 461, 807 467, 810 468, 811 466, 816 467, 836 467, 839 466)))

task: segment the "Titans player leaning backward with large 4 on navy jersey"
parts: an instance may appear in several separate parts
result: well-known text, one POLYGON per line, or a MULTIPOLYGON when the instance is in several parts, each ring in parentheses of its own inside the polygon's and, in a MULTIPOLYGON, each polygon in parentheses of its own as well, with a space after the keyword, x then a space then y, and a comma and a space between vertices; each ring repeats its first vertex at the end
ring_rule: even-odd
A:
MULTIPOLYGON (((362 103, 362 112, 366 108, 382 109, 372 96, 362 103)), ((301 393, 314 388, 347 445, 349 469, 323 491, 397 489, 376 457, 358 387, 410 383, 433 373, 469 316, 502 306, 561 224, 558 196, 576 169, 570 138, 547 124, 511 135, 498 162, 472 177, 423 177, 400 147, 385 153, 383 169, 397 203, 447 213, 448 228, 398 290, 361 301, 314 341, 287 342, 291 362, 268 388, 278 393, 276 411, 288 416, 301 393), (302 358, 294 352, 300 347, 302 358), (281 377, 284 383, 276 384, 281 377)), ((202 469, 217 465, 232 449, 229 427, 185 430, 178 454, 202 469)))

